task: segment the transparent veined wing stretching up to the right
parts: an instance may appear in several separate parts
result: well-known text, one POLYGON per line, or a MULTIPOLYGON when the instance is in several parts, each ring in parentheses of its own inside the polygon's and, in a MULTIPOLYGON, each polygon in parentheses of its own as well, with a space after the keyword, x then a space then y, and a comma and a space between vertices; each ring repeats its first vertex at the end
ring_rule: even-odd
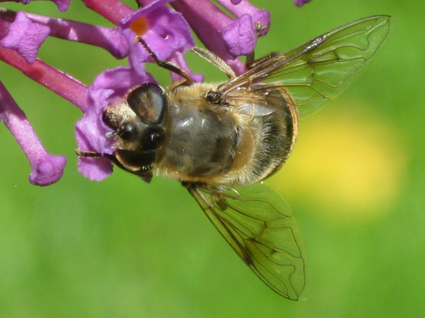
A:
POLYGON ((267 87, 286 91, 286 100, 298 106, 300 117, 317 111, 324 102, 342 92, 354 74, 374 56, 394 25, 389 16, 374 16, 343 25, 286 53, 256 64, 248 72, 221 85, 228 94, 250 87, 258 95, 267 87), (258 82, 276 81, 270 86, 258 82))

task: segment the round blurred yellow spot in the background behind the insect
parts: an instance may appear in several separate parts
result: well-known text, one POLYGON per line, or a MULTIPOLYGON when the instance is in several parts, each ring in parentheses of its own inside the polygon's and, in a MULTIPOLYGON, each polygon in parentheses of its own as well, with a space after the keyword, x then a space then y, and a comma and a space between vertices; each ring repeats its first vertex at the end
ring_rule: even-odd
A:
POLYGON ((301 120, 289 162, 268 183, 334 221, 371 220, 397 198, 405 145, 397 127, 367 107, 350 103, 349 113, 338 107, 301 120))

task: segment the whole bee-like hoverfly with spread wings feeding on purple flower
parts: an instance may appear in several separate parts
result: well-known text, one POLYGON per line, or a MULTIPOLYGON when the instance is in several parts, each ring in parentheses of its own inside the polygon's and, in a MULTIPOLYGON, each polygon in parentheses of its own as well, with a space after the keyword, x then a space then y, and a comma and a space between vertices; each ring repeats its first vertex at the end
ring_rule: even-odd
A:
POLYGON ((105 156, 143 179, 180 182, 246 265, 272 290, 296 300, 305 286, 300 230, 283 198, 260 181, 285 163, 299 118, 346 88, 385 42, 391 21, 374 16, 348 23, 253 61, 242 75, 194 48, 229 76, 218 84, 194 83, 139 39, 159 66, 184 79, 166 89, 133 87, 121 103, 107 106, 104 121, 116 150, 105 156))

